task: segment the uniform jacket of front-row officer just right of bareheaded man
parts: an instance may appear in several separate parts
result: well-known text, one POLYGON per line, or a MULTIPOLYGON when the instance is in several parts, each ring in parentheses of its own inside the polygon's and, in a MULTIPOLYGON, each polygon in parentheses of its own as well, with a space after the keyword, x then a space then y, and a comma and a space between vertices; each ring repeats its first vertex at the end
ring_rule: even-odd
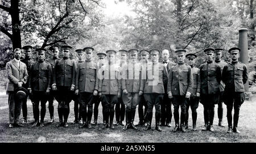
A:
POLYGON ((193 75, 191 66, 181 63, 172 67, 168 73, 167 91, 172 95, 186 95, 193 92, 193 75))

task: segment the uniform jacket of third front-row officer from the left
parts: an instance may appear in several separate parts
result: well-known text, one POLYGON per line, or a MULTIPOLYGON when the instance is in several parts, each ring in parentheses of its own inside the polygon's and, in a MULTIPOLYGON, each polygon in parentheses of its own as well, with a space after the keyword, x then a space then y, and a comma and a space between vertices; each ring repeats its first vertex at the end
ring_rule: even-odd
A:
POLYGON ((76 89, 80 92, 98 90, 98 65, 92 61, 85 61, 77 65, 76 89))

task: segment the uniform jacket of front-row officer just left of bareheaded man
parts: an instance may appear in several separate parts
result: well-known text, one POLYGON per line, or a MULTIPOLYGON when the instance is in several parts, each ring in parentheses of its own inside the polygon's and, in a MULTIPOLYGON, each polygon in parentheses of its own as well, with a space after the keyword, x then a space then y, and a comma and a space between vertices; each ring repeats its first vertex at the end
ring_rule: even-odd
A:
POLYGON ((166 66, 162 63, 147 63, 144 93, 164 93, 164 84, 167 84, 168 74, 166 66))

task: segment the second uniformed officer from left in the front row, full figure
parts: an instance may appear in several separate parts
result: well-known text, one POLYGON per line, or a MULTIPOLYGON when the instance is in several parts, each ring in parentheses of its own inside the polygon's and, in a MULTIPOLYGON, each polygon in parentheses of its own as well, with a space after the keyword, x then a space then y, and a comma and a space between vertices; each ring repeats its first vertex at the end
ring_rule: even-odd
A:
POLYGON ((69 52, 72 49, 69 45, 61 46, 63 58, 56 61, 53 69, 53 91, 57 91, 55 99, 59 103, 58 114, 60 123, 57 127, 68 127, 69 102, 72 100, 76 82, 76 62, 69 59, 69 52), (64 117, 64 123, 63 123, 64 117))

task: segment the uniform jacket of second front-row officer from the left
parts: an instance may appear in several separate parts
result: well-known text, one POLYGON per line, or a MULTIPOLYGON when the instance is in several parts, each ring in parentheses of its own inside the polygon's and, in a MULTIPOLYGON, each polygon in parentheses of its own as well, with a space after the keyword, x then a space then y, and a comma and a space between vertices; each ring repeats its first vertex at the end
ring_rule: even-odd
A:
POLYGON ((65 87, 76 85, 76 62, 67 58, 56 61, 53 69, 53 84, 65 87))

